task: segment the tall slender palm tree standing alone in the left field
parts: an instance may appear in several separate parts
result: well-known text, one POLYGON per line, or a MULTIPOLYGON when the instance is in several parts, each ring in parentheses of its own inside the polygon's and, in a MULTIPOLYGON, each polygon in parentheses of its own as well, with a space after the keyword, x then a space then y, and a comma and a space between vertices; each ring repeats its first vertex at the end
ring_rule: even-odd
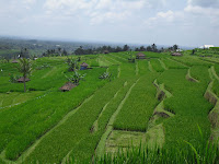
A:
POLYGON ((28 74, 31 74, 32 71, 32 65, 30 59, 21 58, 19 59, 19 72, 23 74, 24 78, 24 92, 26 92, 26 78, 28 74))

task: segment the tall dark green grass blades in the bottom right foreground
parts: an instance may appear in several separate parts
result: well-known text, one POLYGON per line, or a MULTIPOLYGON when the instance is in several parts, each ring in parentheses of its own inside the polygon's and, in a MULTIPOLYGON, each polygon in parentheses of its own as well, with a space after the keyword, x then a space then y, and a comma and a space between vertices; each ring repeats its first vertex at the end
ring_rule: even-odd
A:
MULTIPOLYGON (((201 138, 200 138, 201 140, 201 138)), ((116 154, 105 154, 101 160, 95 159, 93 163, 96 164, 111 164, 111 163, 145 163, 145 164, 180 164, 180 163, 197 163, 209 164, 218 163, 219 151, 217 145, 212 145, 209 142, 201 141, 198 145, 193 145, 189 142, 184 141, 186 145, 184 149, 174 148, 149 150, 148 148, 132 148, 130 147, 126 151, 122 149, 116 154)), ((73 162, 69 163, 74 163, 73 162)), ((88 161, 89 163, 89 161, 88 161)))

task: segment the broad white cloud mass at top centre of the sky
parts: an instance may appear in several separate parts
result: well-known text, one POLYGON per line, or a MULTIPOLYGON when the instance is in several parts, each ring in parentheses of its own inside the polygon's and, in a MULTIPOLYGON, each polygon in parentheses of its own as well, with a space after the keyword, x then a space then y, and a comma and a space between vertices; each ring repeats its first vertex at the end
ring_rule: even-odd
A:
POLYGON ((47 14, 80 15, 89 17, 90 24, 125 21, 149 8, 163 5, 165 0, 47 0, 44 9, 47 14))

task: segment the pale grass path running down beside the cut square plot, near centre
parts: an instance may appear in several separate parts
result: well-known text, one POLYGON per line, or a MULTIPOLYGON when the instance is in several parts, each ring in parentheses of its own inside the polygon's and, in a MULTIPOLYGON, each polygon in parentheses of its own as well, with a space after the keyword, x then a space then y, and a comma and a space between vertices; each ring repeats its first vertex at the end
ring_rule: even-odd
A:
POLYGON ((134 89, 134 86, 137 84, 137 82, 139 81, 139 79, 130 86, 130 89, 128 90, 128 92, 126 93, 124 99, 120 102, 120 104, 118 105, 116 112, 113 114, 113 116, 111 117, 107 126, 106 126, 106 131, 103 133, 103 136, 101 137, 101 140, 96 147, 96 154, 99 157, 101 157, 104 154, 104 150, 105 150, 105 142, 107 140, 107 137, 111 134, 112 130, 113 130, 113 122, 116 118, 116 116, 118 115, 118 113, 120 112, 120 109, 123 108, 123 105, 125 104, 126 99, 128 98, 128 96, 131 93, 131 90, 134 89))

